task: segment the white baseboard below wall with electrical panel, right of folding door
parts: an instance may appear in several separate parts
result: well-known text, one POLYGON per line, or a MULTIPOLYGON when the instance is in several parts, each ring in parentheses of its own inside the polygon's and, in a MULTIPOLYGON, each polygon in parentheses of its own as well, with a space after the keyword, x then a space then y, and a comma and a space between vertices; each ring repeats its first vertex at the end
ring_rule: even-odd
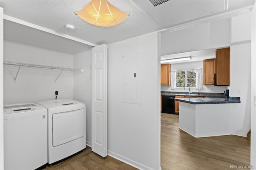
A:
MULTIPOLYGON (((150 168, 146 165, 140 164, 139 162, 131 160, 130 158, 126 158, 125 156, 122 156, 120 154, 116 154, 115 152, 112 152, 110 150, 108 150, 108 156, 111 156, 117 160, 120 160, 120 161, 122 161, 130 166, 133 166, 135 168, 138 168, 140 170, 154 170, 153 168, 150 168)), ((160 167, 159 170, 162 170, 162 168, 160 167)))

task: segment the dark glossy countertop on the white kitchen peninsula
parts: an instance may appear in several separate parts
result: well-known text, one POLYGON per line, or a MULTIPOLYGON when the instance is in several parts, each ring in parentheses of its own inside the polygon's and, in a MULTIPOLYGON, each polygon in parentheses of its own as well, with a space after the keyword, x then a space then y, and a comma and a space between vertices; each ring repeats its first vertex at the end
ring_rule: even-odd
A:
POLYGON ((222 104, 222 103, 241 103, 240 98, 230 97, 226 98, 176 98, 179 102, 185 102, 190 104, 222 104))

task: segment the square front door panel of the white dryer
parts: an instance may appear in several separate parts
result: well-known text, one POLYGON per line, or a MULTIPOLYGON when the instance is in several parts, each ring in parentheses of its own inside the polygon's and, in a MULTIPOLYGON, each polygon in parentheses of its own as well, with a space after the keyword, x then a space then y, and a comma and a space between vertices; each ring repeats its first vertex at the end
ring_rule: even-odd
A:
POLYGON ((52 115, 52 146, 84 136, 84 109, 52 115))

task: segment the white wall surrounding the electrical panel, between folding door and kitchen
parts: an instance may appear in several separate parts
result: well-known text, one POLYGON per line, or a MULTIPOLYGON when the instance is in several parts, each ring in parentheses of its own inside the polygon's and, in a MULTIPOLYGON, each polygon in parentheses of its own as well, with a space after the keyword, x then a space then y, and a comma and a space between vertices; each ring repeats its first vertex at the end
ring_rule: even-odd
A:
POLYGON ((160 169, 158 34, 108 44, 108 154, 140 169, 160 169), (122 102, 122 50, 141 50, 141 104, 122 102))

